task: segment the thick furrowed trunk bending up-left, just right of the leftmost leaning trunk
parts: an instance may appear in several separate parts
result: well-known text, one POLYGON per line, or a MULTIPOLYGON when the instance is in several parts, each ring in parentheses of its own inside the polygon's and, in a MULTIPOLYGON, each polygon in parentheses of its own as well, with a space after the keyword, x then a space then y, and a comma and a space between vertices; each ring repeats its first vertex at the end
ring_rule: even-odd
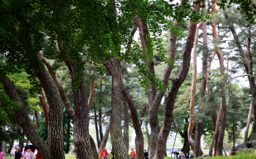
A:
POLYGON ((33 62, 36 68, 36 76, 42 84, 42 88, 45 90, 45 96, 49 105, 48 143, 50 147, 50 157, 65 158, 63 150, 63 105, 61 98, 49 72, 40 61, 40 55, 36 54, 34 57, 35 61, 33 62))

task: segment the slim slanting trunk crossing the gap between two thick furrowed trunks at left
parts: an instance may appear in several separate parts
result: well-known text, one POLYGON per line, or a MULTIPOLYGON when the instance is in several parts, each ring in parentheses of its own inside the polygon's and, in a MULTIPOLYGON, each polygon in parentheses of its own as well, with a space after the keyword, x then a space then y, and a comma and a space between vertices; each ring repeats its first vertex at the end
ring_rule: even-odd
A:
POLYGON ((69 98, 67 98, 67 94, 64 92, 64 89, 61 85, 61 81, 59 80, 59 78, 57 77, 57 74, 55 74, 52 70, 52 66, 50 65, 50 61, 48 61, 46 58, 42 58, 42 62, 45 63, 45 66, 47 67, 47 69, 49 70, 49 72, 51 73, 50 76, 53 78, 58 90, 59 90, 59 94, 61 96, 62 101, 64 102, 67 112, 69 113, 69 117, 71 117, 72 120, 75 119, 75 112, 72 109, 72 106, 69 102, 69 98))

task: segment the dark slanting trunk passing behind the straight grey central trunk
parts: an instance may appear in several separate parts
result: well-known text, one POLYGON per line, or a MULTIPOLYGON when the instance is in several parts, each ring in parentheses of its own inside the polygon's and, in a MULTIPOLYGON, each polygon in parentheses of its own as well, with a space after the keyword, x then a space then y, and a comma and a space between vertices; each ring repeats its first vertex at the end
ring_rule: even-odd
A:
MULTIPOLYGON (((102 61, 108 72, 111 74, 111 66, 108 61, 102 61)), ((111 74, 112 75, 112 74, 111 74)), ((136 139, 135 139, 135 145, 136 145, 136 154, 138 159, 144 158, 144 139, 143 139, 143 133, 140 128, 140 121, 138 117, 138 112, 135 107, 135 104, 132 101, 132 97, 129 95, 129 92, 127 91, 127 88, 125 88, 124 83, 121 82, 121 93, 125 100, 127 101, 127 104, 129 106, 129 111, 131 112, 132 116, 132 124, 135 129, 136 133, 136 139)))

